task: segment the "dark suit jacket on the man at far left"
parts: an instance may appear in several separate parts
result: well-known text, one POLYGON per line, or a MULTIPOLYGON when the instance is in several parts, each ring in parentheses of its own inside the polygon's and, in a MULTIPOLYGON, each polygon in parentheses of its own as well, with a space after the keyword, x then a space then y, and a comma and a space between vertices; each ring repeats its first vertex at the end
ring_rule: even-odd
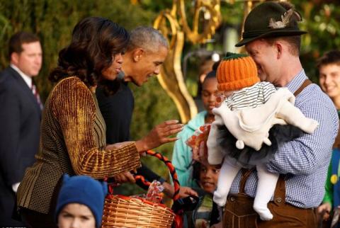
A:
POLYGON ((13 68, 0 73, 0 227, 11 220, 16 196, 11 186, 35 161, 39 149, 41 110, 23 78, 13 68), (4 213, 3 213, 4 212, 4 213))

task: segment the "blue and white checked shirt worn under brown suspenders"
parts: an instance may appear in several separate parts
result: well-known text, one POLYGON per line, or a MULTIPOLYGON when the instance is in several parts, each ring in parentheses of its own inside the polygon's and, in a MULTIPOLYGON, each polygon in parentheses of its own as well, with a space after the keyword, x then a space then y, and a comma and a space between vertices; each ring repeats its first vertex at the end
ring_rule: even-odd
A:
MULTIPOLYGON (((307 76, 302 69, 286 87, 294 93, 305 79, 307 76)), ((286 174, 287 203, 302 208, 317 207, 324 197, 324 183, 339 119, 334 104, 316 84, 307 86, 297 95, 295 106, 307 118, 317 120, 319 127, 312 135, 304 134, 283 144, 266 166, 271 173, 286 174)), ((241 176, 239 172, 230 193, 238 193, 241 176)), ((254 197, 256 186, 257 176, 254 171, 246 181, 245 193, 254 197)))

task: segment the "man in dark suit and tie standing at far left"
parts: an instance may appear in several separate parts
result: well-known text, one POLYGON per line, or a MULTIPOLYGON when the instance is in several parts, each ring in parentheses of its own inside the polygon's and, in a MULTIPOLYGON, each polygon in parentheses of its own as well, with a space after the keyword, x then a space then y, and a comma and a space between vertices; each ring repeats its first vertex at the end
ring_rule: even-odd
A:
POLYGON ((11 215, 23 173, 39 149, 42 105, 32 80, 42 64, 39 38, 16 33, 8 54, 10 66, 0 73, 0 227, 23 227, 11 215))

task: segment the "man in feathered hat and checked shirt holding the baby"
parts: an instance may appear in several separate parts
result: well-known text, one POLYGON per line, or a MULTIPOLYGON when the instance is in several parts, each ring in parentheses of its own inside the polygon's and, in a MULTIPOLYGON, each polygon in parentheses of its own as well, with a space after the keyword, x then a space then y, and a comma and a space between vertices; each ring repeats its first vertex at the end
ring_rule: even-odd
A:
POLYGON ((296 97, 295 106, 307 118, 317 120, 319 127, 311 135, 284 143, 266 164, 269 172, 280 174, 268 203, 273 220, 261 221, 252 209, 258 180, 254 171, 242 171, 227 198, 224 227, 317 227, 313 208, 322 202, 339 122, 331 100, 302 68, 300 35, 306 32, 298 28, 299 21, 300 13, 290 4, 259 4, 246 17, 242 40, 236 46, 245 45, 261 81, 287 87, 296 97))

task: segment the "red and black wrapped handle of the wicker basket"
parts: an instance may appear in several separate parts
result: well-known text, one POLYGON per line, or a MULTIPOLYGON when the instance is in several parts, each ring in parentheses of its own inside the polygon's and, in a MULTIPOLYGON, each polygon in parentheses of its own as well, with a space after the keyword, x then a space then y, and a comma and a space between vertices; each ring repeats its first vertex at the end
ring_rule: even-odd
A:
MULTIPOLYGON (((174 182, 174 196, 172 197, 173 200, 178 200, 179 199, 179 178, 177 177, 177 173, 176 173, 176 169, 174 167, 174 165, 171 163, 171 161, 169 161, 169 159, 166 158, 166 156, 163 156, 162 154, 158 153, 158 152, 154 152, 152 150, 148 150, 146 152, 148 155, 150 156, 155 156, 157 157, 157 159, 159 159, 160 161, 163 161, 164 164, 166 164, 166 166, 168 167, 169 171, 170 171, 170 175, 172 178, 172 181, 174 182)), ((146 181, 144 176, 140 176, 137 175, 135 176, 135 180, 140 180, 142 181, 142 183, 145 186, 149 186, 150 182, 146 181)))

